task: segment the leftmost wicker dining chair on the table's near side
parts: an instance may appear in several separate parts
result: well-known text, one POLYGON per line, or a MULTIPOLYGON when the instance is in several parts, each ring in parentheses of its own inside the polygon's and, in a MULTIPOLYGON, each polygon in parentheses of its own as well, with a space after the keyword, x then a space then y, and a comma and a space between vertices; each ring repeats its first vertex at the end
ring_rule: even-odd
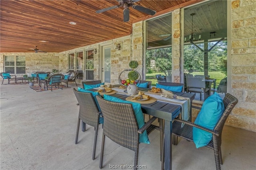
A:
MULTIPOLYGON (((79 103, 79 115, 78 115, 78 122, 77 122, 77 128, 76 128, 75 144, 77 144, 77 141, 78 141, 80 120, 82 121, 82 123, 84 122, 94 127, 95 134, 94 134, 94 145, 93 145, 93 153, 92 153, 92 160, 94 160, 96 145, 97 145, 98 125, 99 125, 99 119, 100 119, 101 113, 91 93, 78 92, 75 88, 73 90, 79 103)), ((86 129, 85 126, 84 126, 84 129, 86 129)))

